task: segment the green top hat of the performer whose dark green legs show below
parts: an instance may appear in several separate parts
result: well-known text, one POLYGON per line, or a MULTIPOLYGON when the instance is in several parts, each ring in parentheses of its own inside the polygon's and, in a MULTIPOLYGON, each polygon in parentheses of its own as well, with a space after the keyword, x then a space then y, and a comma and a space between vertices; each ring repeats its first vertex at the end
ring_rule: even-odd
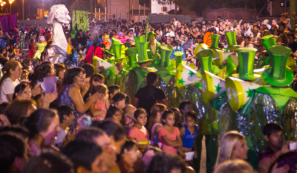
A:
POLYGON ((196 76, 202 78, 203 71, 211 72, 216 74, 219 72, 219 68, 217 66, 212 65, 212 56, 214 55, 214 51, 211 49, 201 50, 196 54, 200 61, 201 68, 197 70, 196 76))

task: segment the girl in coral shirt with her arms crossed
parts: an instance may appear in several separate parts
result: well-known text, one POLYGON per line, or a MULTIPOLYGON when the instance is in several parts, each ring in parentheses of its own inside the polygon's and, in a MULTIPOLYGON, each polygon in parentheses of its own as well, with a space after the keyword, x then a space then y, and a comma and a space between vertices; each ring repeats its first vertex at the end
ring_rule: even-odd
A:
POLYGON ((165 125, 159 130, 159 137, 162 143, 161 149, 165 153, 176 155, 177 148, 183 146, 183 141, 178 128, 173 127, 175 122, 174 113, 171 110, 166 110, 162 114, 162 121, 165 125))

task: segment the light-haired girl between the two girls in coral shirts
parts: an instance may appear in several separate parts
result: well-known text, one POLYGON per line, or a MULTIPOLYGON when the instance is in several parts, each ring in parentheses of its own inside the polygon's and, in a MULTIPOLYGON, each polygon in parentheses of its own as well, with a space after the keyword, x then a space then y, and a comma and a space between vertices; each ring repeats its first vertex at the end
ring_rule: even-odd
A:
POLYGON ((156 103, 151 107, 151 116, 149 118, 149 131, 151 131, 151 140, 159 147, 162 143, 159 138, 159 130, 162 125, 162 114, 167 109, 164 104, 156 103))

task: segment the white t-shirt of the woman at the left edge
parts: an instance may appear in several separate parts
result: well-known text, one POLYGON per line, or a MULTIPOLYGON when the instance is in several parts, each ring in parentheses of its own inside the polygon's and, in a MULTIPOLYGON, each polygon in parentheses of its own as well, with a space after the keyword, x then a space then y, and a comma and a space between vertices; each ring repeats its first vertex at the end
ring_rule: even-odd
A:
POLYGON ((15 92, 15 86, 20 84, 20 81, 17 79, 13 82, 9 77, 3 80, 0 86, 0 104, 3 102, 9 102, 6 94, 13 94, 15 92))

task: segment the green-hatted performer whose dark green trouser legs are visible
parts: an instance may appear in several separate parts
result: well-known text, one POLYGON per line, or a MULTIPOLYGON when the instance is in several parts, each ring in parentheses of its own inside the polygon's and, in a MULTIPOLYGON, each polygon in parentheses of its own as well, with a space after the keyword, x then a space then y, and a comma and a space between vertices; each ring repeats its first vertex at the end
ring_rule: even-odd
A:
MULTIPOLYGON (((196 47, 196 49, 198 49, 198 47, 196 47)), ((198 50, 195 52, 198 52, 198 50)), ((195 56, 199 58, 201 69, 198 69, 196 74, 192 72, 188 75, 196 75, 197 77, 202 78, 202 74, 204 73, 204 71, 218 73, 219 68, 217 66, 212 65, 211 59, 213 55, 214 51, 212 49, 201 50, 198 53, 196 53, 195 56)), ((178 82, 180 81, 178 80, 178 82)), ((207 104, 204 103, 202 97, 201 82, 197 82, 187 87, 187 92, 184 96, 184 99, 192 103, 192 108, 198 114, 199 117, 197 124, 200 127, 200 135, 198 135, 196 138, 198 158, 193 158, 193 168, 196 172, 200 171, 202 139, 204 135, 206 145, 206 172, 211 173, 213 172, 213 168, 216 164, 219 148, 216 144, 218 138, 217 130, 213 129, 213 120, 217 118, 218 111, 213 108, 210 102, 207 104)))

